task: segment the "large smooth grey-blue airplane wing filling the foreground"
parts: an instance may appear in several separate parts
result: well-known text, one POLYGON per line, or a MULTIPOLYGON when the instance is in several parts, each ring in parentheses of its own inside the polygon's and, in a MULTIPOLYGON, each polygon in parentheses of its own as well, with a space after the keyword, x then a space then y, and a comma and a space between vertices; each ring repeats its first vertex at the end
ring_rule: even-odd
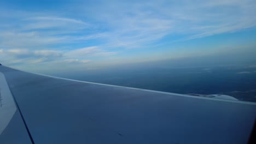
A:
POLYGON ((0 65, 0 143, 247 143, 256 104, 0 65))

